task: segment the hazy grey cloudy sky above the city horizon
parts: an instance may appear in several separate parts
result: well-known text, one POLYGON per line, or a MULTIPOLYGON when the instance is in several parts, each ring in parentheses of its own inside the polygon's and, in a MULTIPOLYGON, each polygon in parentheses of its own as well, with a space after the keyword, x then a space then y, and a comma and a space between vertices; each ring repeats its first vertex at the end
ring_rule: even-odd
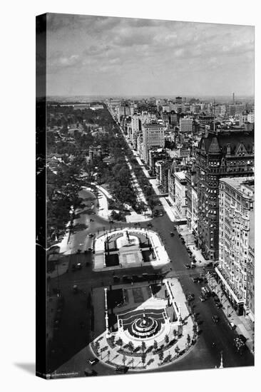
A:
POLYGON ((48 14, 48 96, 252 96, 253 26, 48 14))

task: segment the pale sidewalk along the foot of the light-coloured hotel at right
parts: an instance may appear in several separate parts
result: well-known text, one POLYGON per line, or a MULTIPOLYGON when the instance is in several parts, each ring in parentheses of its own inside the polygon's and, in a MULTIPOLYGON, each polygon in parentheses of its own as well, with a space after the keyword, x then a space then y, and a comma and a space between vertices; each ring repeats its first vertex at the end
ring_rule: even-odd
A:
POLYGON ((210 289, 213 290, 218 295, 220 302, 222 304, 222 311, 225 314, 227 321, 229 323, 235 324, 237 327, 235 331, 237 334, 241 334, 245 336, 247 339, 246 346, 252 352, 253 348, 253 334, 254 331, 250 326, 250 322, 247 320, 245 316, 238 316, 236 311, 232 308, 230 301, 228 301, 225 294, 223 294, 220 284, 215 280, 214 277, 211 277, 210 274, 206 274, 206 278, 208 279, 208 284, 210 289))

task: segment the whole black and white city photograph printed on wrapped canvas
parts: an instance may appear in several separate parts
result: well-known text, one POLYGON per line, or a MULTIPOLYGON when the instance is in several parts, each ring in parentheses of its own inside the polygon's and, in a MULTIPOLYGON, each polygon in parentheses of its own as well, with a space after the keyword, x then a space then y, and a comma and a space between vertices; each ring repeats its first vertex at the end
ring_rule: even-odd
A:
POLYGON ((254 366, 254 72, 252 25, 36 16, 37 376, 254 366))

